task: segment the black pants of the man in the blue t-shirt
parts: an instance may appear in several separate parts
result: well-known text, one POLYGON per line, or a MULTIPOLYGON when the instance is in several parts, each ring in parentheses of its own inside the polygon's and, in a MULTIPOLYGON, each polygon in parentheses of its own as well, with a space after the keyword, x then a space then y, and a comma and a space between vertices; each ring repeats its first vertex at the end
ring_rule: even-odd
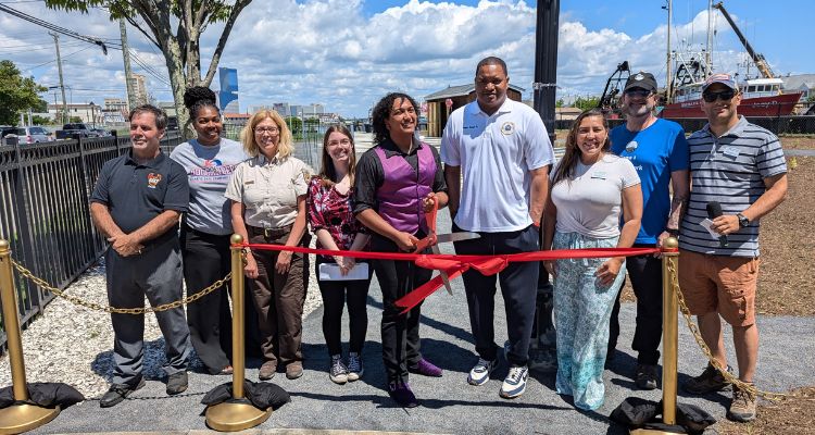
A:
MULTIPOLYGON (((635 248, 653 248, 653 245, 635 245, 635 248)), ((631 348, 638 353, 637 362, 657 364, 662 340, 662 260, 651 254, 628 257, 628 278, 637 296, 637 326, 631 348)), ((622 293, 622 291, 620 291, 622 293)), ((619 294, 614 302, 609 324, 609 351, 617 347, 619 336, 619 294)))

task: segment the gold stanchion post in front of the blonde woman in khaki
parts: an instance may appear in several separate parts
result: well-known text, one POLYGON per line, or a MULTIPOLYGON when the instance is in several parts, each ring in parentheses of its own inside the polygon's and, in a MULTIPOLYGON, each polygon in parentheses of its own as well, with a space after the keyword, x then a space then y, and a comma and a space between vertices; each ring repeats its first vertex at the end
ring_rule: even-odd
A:
POLYGON ((272 408, 258 409, 243 394, 246 377, 244 349, 244 298, 243 298, 243 250, 239 246, 243 237, 233 234, 230 239, 233 265, 233 398, 206 408, 206 424, 221 432, 236 432, 254 427, 268 419, 272 408))

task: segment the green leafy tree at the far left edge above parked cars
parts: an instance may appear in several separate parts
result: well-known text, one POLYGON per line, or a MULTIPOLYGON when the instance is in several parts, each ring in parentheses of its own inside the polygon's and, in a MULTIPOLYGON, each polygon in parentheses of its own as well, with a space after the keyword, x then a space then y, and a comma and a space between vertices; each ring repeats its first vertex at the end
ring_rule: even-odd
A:
POLYGON ((16 125, 21 112, 37 110, 42 101, 37 94, 46 90, 34 77, 23 77, 14 62, 0 61, 0 124, 16 125))

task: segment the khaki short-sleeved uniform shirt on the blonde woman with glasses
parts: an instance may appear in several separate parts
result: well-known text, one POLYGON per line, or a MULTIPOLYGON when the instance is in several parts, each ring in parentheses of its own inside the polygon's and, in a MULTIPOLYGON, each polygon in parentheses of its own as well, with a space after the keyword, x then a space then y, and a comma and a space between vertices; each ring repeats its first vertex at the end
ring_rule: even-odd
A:
POLYGON ((289 156, 267 160, 258 154, 235 169, 226 198, 242 202, 243 221, 260 228, 279 228, 294 223, 297 198, 309 191, 311 167, 289 156))

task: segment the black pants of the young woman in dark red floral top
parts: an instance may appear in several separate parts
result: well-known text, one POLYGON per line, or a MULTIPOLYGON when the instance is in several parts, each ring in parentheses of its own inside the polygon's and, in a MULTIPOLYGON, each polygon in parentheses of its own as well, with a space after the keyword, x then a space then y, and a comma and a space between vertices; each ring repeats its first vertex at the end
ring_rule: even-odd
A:
MULTIPOLYGON (((317 256, 316 270, 319 264, 334 263, 322 256, 317 256)), ((367 297, 371 285, 372 271, 368 269, 367 279, 354 281, 321 281, 319 272, 317 285, 323 295, 323 336, 328 346, 328 355, 342 353, 342 311, 348 303, 348 326, 350 330, 349 350, 362 353, 365 344, 365 333, 368 328, 367 297)))

